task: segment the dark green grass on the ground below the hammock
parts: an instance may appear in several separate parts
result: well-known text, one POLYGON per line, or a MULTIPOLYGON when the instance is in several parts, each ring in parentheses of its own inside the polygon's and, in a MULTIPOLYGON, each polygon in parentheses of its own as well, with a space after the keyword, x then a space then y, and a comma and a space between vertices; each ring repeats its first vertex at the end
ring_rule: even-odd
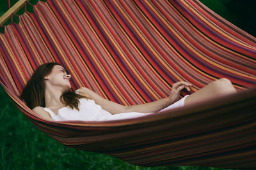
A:
MULTIPOLYGON (((205 169, 140 167, 99 153, 67 148, 36 127, 0 87, 0 169, 205 169)), ((218 169, 220 170, 220 169, 218 169)))

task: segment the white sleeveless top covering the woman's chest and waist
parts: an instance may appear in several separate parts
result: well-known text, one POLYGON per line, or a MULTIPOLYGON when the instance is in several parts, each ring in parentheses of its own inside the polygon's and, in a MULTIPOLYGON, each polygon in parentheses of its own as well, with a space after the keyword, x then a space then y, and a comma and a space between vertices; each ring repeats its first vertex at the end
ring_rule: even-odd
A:
POLYGON ((56 115, 49 108, 44 108, 45 111, 49 112, 52 119, 56 121, 60 120, 84 120, 84 121, 106 121, 106 120, 120 120, 125 118, 136 118, 149 113, 119 113, 112 115, 106 110, 103 110, 99 104, 91 99, 79 99, 79 111, 76 108, 63 107, 58 110, 56 115))

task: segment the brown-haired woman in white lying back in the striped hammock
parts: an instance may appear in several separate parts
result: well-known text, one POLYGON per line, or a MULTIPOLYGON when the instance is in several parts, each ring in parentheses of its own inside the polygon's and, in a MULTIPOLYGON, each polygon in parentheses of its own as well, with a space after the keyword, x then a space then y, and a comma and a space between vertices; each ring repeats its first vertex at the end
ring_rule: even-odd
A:
POLYGON ((191 87, 191 83, 179 81, 173 84, 170 96, 164 99, 123 106, 108 101, 85 87, 74 92, 70 78, 70 74, 60 64, 42 64, 33 73, 20 97, 29 108, 46 120, 104 121, 141 117, 236 92, 229 80, 221 78, 178 101, 180 91, 190 91, 191 87))

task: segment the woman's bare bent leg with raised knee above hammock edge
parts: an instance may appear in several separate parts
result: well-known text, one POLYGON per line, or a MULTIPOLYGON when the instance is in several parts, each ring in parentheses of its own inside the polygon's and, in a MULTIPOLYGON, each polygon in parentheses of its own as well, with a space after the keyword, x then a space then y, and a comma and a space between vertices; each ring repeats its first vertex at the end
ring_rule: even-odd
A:
POLYGON ((202 89, 186 97, 184 106, 191 103, 199 103, 214 97, 227 96, 228 94, 236 92, 230 80, 221 78, 220 80, 212 81, 202 89))

